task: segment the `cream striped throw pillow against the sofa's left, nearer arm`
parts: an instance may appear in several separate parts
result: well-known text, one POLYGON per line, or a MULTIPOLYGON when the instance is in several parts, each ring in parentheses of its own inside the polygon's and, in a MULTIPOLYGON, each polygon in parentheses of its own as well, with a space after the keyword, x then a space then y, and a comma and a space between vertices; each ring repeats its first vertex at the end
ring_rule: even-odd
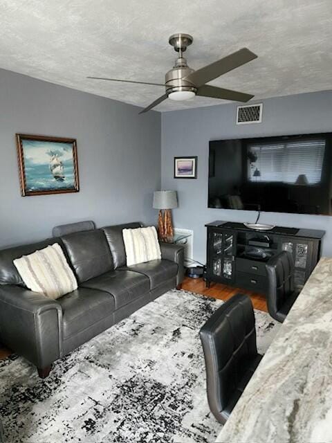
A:
POLYGON ((75 275, 57 243, 17 258, 14 264, 26 287, 53 300, 77 289, 75 275))

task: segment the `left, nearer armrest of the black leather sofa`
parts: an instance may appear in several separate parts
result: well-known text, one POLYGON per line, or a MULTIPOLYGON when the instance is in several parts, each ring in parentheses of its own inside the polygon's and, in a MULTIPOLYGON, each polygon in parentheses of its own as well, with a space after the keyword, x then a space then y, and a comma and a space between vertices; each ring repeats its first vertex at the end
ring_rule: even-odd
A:
POLYGON ((62 308, 40 293, 0 286, 0 340, 37 368, 62 356, 62 308))

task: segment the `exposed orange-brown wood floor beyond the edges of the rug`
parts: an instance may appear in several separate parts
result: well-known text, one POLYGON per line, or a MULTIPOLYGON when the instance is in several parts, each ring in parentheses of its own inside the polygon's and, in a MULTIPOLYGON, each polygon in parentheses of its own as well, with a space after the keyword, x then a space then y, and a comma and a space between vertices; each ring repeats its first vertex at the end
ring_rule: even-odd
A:
MULTIPOLYGON (((260 311, 268 311, 266 307, 265 297, 259 293, 244 291, 243 289, 233 288, 220 283, 211 283, 210 288, 205 287, 205 282, 203 278, 189 278, 186 277, 182 284, 182 289, 185 291, 201 293, 203 296, 219 298, 221 300, 228 300, 228 298, 234 296, 237 292, 246 293, 250 296, 252 300, 252 305, 254 309, 259 309, 260 311)), ((5 348, 0 347, 0 360, 6 359, 11 354, 11 352, 5 348)))

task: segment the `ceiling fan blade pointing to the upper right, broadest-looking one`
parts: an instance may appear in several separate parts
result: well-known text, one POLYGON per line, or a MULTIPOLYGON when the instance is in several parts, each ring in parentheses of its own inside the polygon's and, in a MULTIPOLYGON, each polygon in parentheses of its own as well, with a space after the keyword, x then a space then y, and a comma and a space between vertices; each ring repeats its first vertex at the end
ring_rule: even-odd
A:
POLYGON ((214 78, 220 77, 220 75, 226 72, 232 71, 242 64, 246 64, 251 60, 257 58, 257 55, 249 51, 248 48, 242 48, 239 51, 227 55, 214 63, 208 64, 201 69, 197 69, 192 74, 184 77, 183 80, 192 82, 194 86, 200 87, 205 83, 214 80, 214 78))

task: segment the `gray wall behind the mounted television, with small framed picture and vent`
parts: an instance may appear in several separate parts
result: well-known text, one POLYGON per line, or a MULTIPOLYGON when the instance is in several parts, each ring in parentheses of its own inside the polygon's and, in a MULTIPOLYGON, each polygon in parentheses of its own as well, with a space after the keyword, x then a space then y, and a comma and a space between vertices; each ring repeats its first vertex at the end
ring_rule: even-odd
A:
MULTIPOLYGON (((162 188, 178 191, 174 225, 194 230, 194 258, 205 262, 205 223, 255 221, 257 213, 208 209, 210 140, 282 134, 332 132, 332 92, 306 93, 263 100, 263 122, 235 125, 236 105, 166 112, 162 116, 162 188), (174 156, 198 156, 198 179, 173 178, 174 156)), ((326 230, 323 255, 332 256, 332 217, 262 213, 261 222, 326 230)))

